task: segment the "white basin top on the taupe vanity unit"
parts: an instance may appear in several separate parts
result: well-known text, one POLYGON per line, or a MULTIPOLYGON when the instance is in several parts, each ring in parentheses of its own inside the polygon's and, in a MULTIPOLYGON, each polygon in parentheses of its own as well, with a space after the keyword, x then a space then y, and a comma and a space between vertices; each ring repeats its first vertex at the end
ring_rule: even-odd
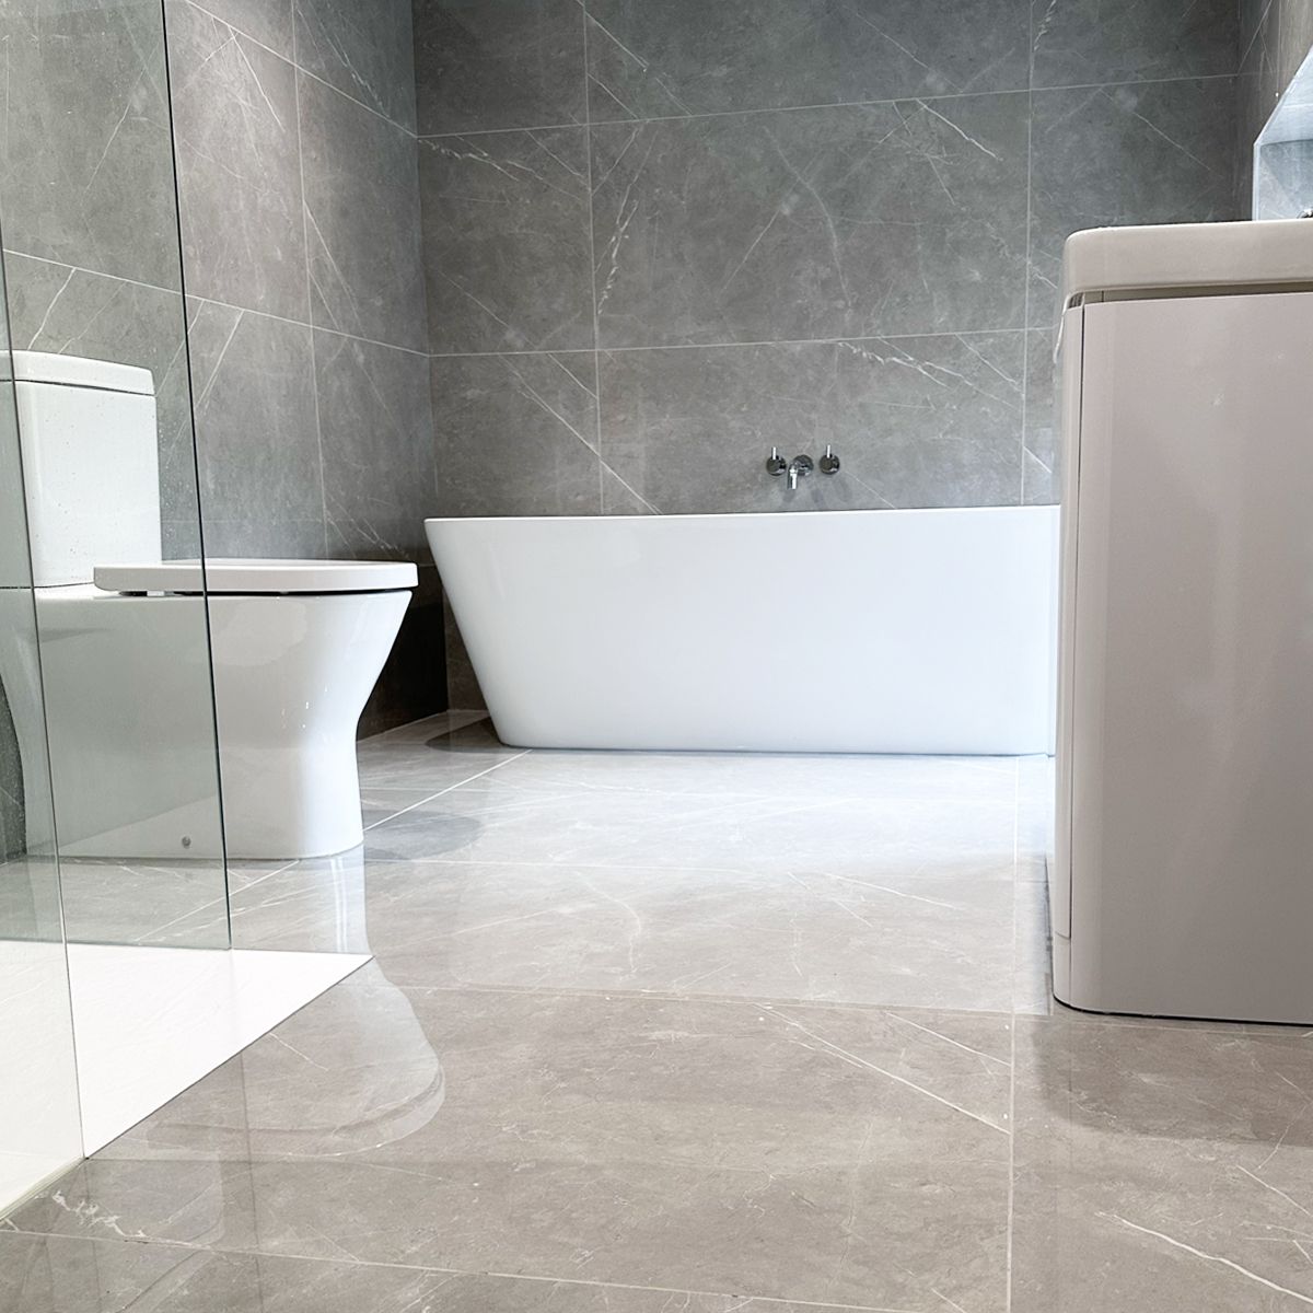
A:
POLYGON ((1062 249, 1062 309, 1102 291, 1313 284, 1313 219, 1088 228, 1062 249))

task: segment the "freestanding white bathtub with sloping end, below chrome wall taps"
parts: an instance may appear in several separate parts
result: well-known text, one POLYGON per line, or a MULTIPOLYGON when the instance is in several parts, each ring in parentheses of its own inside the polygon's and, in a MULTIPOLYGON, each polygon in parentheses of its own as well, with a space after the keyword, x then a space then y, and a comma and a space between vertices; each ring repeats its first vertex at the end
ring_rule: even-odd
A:
POLYGON ((521 747, 1049 752, 1056 507, 427 520, 521 747))

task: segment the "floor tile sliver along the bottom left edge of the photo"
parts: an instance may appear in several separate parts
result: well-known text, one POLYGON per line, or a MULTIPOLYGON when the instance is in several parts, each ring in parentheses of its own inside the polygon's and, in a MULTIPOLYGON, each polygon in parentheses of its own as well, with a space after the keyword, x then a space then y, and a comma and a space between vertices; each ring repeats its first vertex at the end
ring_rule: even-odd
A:
MULTIPOLYGON (((0 1233, 5 1313, 671 1313, 674 1308, 804 1313, 800 1305, 733 1295, 0 1233)), ((807 1308, 831 1313, 823 1305, 807 1308)))

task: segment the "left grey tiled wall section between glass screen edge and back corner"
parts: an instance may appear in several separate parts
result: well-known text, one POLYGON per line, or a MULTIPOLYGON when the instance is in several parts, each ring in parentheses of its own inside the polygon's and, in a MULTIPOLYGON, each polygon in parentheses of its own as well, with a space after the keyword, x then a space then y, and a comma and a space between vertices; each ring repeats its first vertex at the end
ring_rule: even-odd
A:
POLYGON ((169 0, 206 548, 403 558, 366 709, 445 705, 406 0, 169 0))

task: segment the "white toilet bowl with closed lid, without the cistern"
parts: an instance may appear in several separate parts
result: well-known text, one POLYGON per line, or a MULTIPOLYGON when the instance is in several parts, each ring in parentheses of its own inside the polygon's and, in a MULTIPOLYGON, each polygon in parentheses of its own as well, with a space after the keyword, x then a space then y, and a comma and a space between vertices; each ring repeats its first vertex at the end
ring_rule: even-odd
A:
POLYGON ((356 723, 416 583, 394 562, 96 567, 37 590, 67 856, 318 857, 364 838, 356 723))

